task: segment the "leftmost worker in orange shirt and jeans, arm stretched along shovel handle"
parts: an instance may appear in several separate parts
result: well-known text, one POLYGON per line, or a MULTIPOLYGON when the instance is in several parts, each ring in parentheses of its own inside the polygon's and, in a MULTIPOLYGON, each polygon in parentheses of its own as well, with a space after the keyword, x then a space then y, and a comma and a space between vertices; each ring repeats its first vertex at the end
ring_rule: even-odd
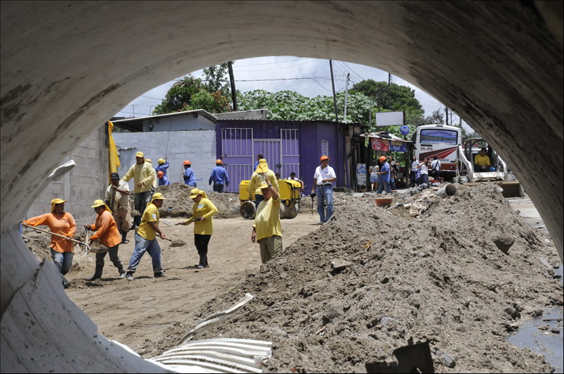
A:
MULTIPOLYGON (((75 236, 76 223, 71 213, 65 211, 65 202, 66 200, 63 199, 52 199, 51 213, 32 217, 23 221, 22 225, 24 227, 45 225, 49 227, 49 230, 54 234, 63 235, 72 239, 75 236)), ((71 242, 71 240, 51 235, 51 244, 49 244, 49 247, 51 248, 51 258, 53 262, 61 274, 65 275, 68 273, 68 270, 71 270, 71 266, 73 265, 74 243, 71 242)))

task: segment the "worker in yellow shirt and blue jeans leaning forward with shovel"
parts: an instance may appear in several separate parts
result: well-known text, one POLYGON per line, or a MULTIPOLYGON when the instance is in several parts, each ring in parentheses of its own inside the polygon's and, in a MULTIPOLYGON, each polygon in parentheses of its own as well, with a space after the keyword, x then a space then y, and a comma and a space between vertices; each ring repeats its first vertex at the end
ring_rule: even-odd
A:
POLYGON ((157 234, 161 239, 167 239, 159 228, 159 208, 163 206, 165 197, 157 192, 153 195, 153 199, 147 205, 145 213, 141 220, 139 230, 135 233, 135 249, 129 260, 128 273, 125 275, 127 280, 133 280, 133 273, 137 270, 137 266, 141 261, 141 257, 147 252, 153 260, 153 272, 155 278, 164 277, 163 268, 161 266, 161 246, 157 242, 157 234))

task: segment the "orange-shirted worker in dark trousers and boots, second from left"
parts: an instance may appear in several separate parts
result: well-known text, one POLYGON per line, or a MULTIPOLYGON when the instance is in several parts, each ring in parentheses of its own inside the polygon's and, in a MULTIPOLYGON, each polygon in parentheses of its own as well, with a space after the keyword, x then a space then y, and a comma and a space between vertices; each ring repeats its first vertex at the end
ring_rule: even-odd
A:
POLYGON ((121 235, 119 235, 116 220, 114 220, 114 216, 112 216, 110 208, 106 204, 104 204, 104 201, 94 201, 92 208, 94 208, 94 211, 98 216, 96 217, 96 223, 94 223, 94 225, 84 225, 85 229, 88 231, 96 230, 96 232, 94 232, 94 235, 90 237, 88 244, 92 244, 94 241, 99 240, 100 244, 108 247, 108 250, 96 254, 96 270, 94 270, 94 275, 92 275, 91 278, 87 278, 87 280, 96 280, 102 278, 102 270, 104 270, 104 257, 106 257, 106 253, 110 254, 110 261, 114 263, 114 266, 116 266, 116 268, 118 268, 120 278, 125 278, 123 263, 121 263, 121 260, 118 257, 121 235))

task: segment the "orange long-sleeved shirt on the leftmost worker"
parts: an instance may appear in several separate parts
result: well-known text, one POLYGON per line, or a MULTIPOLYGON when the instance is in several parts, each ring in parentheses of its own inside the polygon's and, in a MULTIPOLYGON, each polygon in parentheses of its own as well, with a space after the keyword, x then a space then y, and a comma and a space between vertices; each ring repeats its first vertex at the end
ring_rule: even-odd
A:
MULTIPOLYGON (((59 235, 65 235, 66 237, 73 237, 76 232, 75 219, 71 216, 71 213, 68 212, 63 214, 45 213, 42 216, 25 220, 23 223, 30 226, 45 225, 49 227, 51 232, 59 235)), ((51 244, 49 244, 49 247, 51 247, 54 251, 61 253, 72 252, 74 245, 75 244, 70 240, 51 235, 51 244)))

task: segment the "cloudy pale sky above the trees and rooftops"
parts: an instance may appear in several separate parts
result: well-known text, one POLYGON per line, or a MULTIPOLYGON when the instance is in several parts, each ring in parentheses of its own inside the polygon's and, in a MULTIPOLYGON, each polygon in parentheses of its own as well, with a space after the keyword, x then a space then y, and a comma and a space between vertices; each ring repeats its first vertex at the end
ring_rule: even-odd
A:
MULTIPOLYGON (((203 77, 202 70, 191 73, 194 77, 203 77)), ((350 73, 350 85, 361 80, 372 79, 377 81, 388 81, 388 73, 384 70, 369 66, 357 65, 343 61, 333 61, 333 75, 335 76, 335 89, 338 92, 345 91, 346 75, 350 73)), ((235 86, 242 92, 252 91, 253 89, 264 89, 270 92, 290 90, 298 92, 304 96, 314 97, 317 95, 332 95, 331 92, 331 72, 329 61, 318 58, 299 58, 295 56, 269 56, 246 58, 235 61, 233 64, 233 75, 235 76, 235 86), (306 78, 306 79, 295 79, 306 78)), ((145 94, 137 97, 125 106, 116 116, 120 117, 142 117, 148 116, 149 111, 161 100, 175 80, 166 82, 164 85, 155 87, 145 94)), ((402 80, 400 77, 392 75, 392 82, 398 85, 409 86, 415 89, 415 97, 425 110, 425 115, 430 116, 433 111, 440 109, 444 111, 444 105, 433 96, 427 94, 419 87, 402 80)), ((458 123, 458 116, 453 116, 453 122, 458 123)), ((464 121, 462 125, 466 130, 470 130, 464 121)))

